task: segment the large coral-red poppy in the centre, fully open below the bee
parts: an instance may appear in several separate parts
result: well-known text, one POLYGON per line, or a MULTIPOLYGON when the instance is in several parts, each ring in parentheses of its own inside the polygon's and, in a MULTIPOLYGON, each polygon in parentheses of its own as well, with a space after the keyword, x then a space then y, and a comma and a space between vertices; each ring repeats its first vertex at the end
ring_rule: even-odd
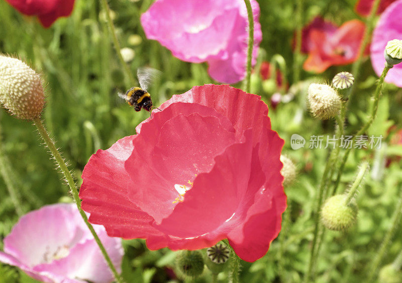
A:
POLYGON ((229 239, 255 261, 278 235, 286 207, 283 140, 259 96, 229 86, 174 95, 85 166, 89 221, 149 249, 197 250, 229 239))

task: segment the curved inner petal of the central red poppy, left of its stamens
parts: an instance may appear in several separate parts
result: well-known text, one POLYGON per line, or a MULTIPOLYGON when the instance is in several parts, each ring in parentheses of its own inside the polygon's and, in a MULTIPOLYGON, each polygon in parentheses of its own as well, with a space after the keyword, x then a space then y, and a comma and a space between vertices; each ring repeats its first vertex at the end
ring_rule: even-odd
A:
POLYGON ((132 176, 131 201, 157 223, 176 205, 173 202, 179 193, 175 185, 190 186, 188 182, 200 172, 208 172, 214 157, 235 142, 229 120, 212 108, 175 103, 166 110, 144 124, 125 164, 132 176), (172 117, 171 112, 181 115, 172 117))

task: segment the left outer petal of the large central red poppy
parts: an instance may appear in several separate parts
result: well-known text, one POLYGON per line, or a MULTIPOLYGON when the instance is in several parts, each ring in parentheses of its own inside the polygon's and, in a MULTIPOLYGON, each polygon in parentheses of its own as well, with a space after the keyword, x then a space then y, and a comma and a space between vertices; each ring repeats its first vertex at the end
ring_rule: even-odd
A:
POLYGON ((110 149, 98 150, 82 173, 79 192, 82 209, 90 213, 91 223, 105 226, 110 236, 133 239, 159 233, 150 225, 153 218, 128 197, 127 188, 132 181, 124 162, 134 150, 136 137, 124 137, 110 149))

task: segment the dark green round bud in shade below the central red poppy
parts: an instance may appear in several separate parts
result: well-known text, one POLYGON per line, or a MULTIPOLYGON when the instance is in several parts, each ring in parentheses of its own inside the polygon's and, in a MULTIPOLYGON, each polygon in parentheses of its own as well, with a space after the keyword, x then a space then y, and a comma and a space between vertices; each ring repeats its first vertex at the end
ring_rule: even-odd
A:
POLYGON ((204 271, 204 258, 200 251, 180 251, 176 257, 176 270, 181 277, 196 277, 204 271))

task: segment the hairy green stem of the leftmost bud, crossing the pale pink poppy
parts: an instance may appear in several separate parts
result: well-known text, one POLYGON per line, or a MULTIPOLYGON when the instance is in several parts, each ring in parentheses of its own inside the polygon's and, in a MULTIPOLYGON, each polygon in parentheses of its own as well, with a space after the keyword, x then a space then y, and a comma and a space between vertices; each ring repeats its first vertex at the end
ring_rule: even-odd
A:
POLYGON ((47 133, 47 131, 42 123, 42 120, 40 118, 35 118, 33 121, 34 121, 36 127, 38 128, 38 131, 39 131, 42 139, 44 140, 46 146, 50 150, 52 156, 54 157, 54 159, 57 162, 57 165, 59 166, 61 172, 63 173, 63 175, 67 181, 67 184, 70 187, 70 190, 71 190, 72 196, 74 198, 75 204, 77 205, 78 211, 79 211, 82 219, 84 220, 86 226, 88 227, 89 231, 91 232, 93 238, 95 239, 97 245, 99 246, 100 251, 104 255, 106 262, 108 263, 110 269, 113 272, 113 275, 116 278, 116 281, 119 283, 123 282, 122 279, 120 278, 119 273, 117 273, 116 268, 112 263, 112 260, 110 259, 108 253, 106 252, 104 245, 102 244, 102 242, 100 242, 99 237, 96 235, 95 230, 93 229, 92 225, 88 222, 88 218, 86 217, 84 210, 82 210, 82 208, 81 208, 81 200, 78 196, 77 187, 75 186, 74 180, 70 174, 70 171, 67 168, 66 163, 64 162, 64 159, 61 157, 61 155, 58 152, 58 150, 56 149, 52 139, 49 137, 49 134, 47 133))

